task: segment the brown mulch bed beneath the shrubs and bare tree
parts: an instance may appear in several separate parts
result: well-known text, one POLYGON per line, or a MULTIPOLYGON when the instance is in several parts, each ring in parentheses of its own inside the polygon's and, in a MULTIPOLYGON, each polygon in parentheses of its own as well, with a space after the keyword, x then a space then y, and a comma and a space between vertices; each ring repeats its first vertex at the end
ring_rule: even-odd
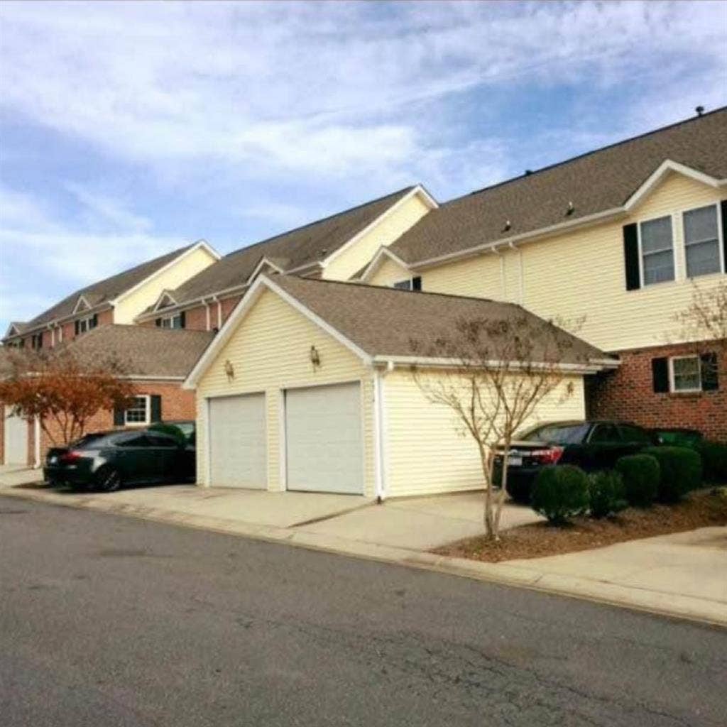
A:
POLYGON ((654 505, 648 510, 630 507, 613 518, 574 518, 569 525, 521 525, 504 531, 499 543, 484 537, 467 538, 434 550, 439 555, 499 563, 515 558, 576 553, 624 540, 680 533, 696 528, 727 525, 727 488, 694 491, 677 505, 654 505))

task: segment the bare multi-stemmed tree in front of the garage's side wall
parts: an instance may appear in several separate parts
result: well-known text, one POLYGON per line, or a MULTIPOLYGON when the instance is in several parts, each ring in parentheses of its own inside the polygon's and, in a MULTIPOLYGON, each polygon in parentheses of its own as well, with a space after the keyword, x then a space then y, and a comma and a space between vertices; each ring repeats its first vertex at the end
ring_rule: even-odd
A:
POLYGON ((587 362, 577 339, 553 321, 514 310, 505 318, 459 319, 429 345, 411 341, 417 357, 438 360, 436 369, 411 367, 419 390, 431 403, 449 407, 457 430, 478 448, 483 521, 495 541, 507 485, 506 457, 502 480, 494 482, 496 454, 510 451, 515 433, 534 421, 546 398, 557 404, 573 395, 574 371, 587 362))

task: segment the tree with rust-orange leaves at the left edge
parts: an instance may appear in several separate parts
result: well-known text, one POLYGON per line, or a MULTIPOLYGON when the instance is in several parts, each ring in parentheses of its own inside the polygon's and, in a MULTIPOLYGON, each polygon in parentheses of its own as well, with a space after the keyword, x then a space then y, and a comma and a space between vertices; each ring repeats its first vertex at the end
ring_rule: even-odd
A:
POLYGON ((99 411, 126 409, 134 396, 124 365, 110 356, 83 356, 69 345, 48 352, 15 349, 5 359, 0 401, 17 417, 38 417, 55 446, 84 435, 99 411))

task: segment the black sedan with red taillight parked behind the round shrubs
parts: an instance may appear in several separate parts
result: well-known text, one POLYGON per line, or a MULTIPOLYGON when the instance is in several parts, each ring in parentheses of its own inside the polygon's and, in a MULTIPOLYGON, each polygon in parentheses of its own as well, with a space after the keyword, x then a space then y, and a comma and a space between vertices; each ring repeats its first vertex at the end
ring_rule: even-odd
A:
MULTIPOLYGON (((609 470, 619 457, 651 446, 650 433, 627 422, 551 422, 518 436, 507 455, 507 494, 529 504, 537 474, 547 465, 578 465, 586 472, 609 470)), ((503 455, 494 461, 493 479, 502 482, 503 455)))

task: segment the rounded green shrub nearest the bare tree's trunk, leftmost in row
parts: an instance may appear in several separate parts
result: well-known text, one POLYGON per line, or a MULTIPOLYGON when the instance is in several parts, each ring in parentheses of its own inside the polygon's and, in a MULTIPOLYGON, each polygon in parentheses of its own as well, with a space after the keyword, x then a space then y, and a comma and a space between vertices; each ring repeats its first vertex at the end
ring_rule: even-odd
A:
POLYGON ((588 478, 580 467, 551 465, 535 478, 532 506, 556 525, 588 509, 588 478))

